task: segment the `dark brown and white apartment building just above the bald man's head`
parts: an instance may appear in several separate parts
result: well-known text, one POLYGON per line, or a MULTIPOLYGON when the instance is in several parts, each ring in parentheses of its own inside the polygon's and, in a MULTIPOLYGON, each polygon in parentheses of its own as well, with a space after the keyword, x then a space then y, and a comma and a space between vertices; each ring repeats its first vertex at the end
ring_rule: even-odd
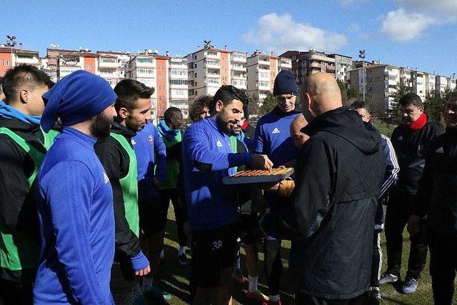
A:
POLYGON ((336 79, 349 82, 352 68, 352 57, 342 54, 326 54, 311 49, 309 51, 286 51, 280 55, 291 59, 293 74, 298 86, 306 77, 317 72, 333 74, 336 79))

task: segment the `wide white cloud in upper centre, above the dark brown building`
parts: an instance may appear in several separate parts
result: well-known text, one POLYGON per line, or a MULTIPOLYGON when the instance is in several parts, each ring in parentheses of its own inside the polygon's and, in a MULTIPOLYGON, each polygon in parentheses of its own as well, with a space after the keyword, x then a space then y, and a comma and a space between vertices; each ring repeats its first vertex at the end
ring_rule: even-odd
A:
POLYGON ((336 51, 346 44, 346 36, 292 20, 290 14, 271 13, 261 16, 255 29, 243 39, 263 51, 280 54, 286 50, 318 49, 336 51))

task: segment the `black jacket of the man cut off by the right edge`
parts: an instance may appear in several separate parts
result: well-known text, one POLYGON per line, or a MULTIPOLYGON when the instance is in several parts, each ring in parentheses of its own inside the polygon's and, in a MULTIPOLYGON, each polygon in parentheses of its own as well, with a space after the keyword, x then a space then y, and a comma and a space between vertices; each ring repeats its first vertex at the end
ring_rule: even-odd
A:
POLYGON ((457 236, 457 130, 446 128, 429 146, 413 214, 427 216, 427 229, 457 236))

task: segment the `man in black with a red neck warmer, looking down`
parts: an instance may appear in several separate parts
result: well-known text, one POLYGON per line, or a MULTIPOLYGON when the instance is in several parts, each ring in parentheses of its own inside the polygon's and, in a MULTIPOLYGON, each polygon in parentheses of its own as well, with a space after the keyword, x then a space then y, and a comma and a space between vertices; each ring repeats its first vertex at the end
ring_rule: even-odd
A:
MULTIPOLYGON (((400 165, 400 177, 391 189, 386 209, 387 270, 379 284, 395 283, 400 279, 403 230, 416 201, 418 181, 425 164, 425 151, 431 141, 443 131, 423 111, 421 98, 408 93, 398 101, 402 124, 393 130, 391 140, 400 165)), ((427 241, 425 221, 421 231, 411 236, 408 271, 403 283, 403 294, 417 289, 418 279, 426 264, 427 241)))

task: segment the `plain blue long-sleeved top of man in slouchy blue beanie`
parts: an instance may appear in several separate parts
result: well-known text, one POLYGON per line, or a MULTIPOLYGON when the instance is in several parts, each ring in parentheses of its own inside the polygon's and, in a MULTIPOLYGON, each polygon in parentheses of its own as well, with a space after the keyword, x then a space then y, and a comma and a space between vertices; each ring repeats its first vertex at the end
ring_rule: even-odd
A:
POLYGON ((113 304, 113 191, 96 139, 64 127, 44 157, 37 206, 41 253, 34 304, 113 304))

